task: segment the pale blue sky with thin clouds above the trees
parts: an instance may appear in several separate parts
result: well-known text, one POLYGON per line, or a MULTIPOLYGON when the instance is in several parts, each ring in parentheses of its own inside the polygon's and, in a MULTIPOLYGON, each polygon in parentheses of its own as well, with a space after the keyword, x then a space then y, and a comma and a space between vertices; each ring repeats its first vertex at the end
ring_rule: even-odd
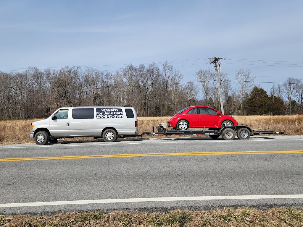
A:
POLYGON ((187 82, 209 67, 203 59, 219 56, 273 61, 225 60, 222 71, 230 79, 244 68, 255 81, 284 82, 303 78, 302 8, 301 0, 0 0, 0 70, 66 65, 116 70, 168 61, 187 82))

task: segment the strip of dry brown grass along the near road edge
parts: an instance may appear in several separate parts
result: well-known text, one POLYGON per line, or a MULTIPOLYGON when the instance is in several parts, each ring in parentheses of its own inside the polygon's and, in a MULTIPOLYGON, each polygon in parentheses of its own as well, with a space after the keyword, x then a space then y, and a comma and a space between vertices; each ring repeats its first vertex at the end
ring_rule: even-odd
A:
POLYGON ((216 209, 207 211, 174 210, 172 212, 125 212, 103 213, 69 212, 55 215, 0 215, 1 227, 40 226, 303 226, 303 211, 293 208, 267 210, 249 207, 216 209))

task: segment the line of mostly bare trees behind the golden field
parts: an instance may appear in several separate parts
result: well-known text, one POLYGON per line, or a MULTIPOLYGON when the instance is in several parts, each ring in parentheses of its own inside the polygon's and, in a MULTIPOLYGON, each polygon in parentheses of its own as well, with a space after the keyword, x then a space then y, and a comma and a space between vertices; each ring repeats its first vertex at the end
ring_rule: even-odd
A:
MULTIPOLYGON (((220 111, 216 74, 201 69, 194 75, 196 81, 185 83, 180 71, 168 62, 160 67, 129 64, 115 72, 80 66, 0 71, 0 119, 43 118, 67 106, 131 106, 140 117, 171 116, 192 105, 220 111)), ((230 81, 227 73, 219 74, 225 113, 302 113, 301 79, 273 84, 268 95, 255 87, 249 70, 238 70, 234 78, 230 81)))

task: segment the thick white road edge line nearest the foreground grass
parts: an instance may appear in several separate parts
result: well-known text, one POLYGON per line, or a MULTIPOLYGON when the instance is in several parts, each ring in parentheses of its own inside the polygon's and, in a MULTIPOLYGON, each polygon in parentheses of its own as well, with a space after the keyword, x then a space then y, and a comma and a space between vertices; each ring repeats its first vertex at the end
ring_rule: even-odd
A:
POLYGON ((159 202, 159 201, 185 201, 185 200, 221 200, 221 199, 291 199, 303 198, 302 195, 249 195, 249 196, 192 196, 192 197, 156 197, 156 198, 132 198, 132 199, 94 199, 54 202, 24 202, 24 203, 2 203, 3 207, 23 206, 55 206, 55 205, 76 205, 92 203, 119 203, 119 202, 159 202))

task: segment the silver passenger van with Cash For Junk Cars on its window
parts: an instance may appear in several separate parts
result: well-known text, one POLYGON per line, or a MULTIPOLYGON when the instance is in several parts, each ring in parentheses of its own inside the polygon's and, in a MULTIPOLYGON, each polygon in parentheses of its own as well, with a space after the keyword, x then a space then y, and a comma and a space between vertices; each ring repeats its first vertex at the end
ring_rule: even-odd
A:
POLYGON ((63 107, 50 117, 31 123, 30 138, 38 145, 57 143, 71 137, 103 138, 114 142, 118 137, 138 136, 134 107, 63 107))

